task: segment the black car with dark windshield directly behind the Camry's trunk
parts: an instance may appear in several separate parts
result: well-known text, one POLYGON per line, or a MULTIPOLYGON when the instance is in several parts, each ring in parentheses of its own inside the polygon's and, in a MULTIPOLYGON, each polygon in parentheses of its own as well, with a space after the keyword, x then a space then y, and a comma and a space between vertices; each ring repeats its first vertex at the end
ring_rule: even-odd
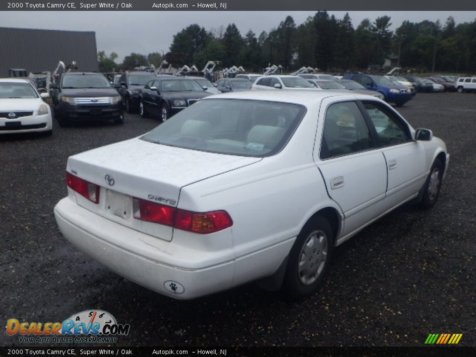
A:
POLYGON ((160 116, 165 121, 200 98, 211 95, 191 78, 163 76, 149 81, 140 90, 139 114, 160 116))

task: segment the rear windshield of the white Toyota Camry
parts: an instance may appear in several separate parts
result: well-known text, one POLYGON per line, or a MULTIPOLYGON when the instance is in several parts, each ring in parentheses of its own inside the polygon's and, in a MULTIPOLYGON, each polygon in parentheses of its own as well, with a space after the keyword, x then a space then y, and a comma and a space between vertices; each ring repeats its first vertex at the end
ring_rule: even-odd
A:
POLYGON ((265 157, 286 145, 305 111, 290 103, 207 99, 182 110, 141 139, 198 151, 265 157))

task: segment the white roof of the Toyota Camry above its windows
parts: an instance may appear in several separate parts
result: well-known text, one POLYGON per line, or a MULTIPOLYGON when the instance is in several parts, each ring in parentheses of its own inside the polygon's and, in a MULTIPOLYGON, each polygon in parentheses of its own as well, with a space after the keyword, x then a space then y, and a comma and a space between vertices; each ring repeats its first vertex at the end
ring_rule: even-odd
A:
POLYGON ((355 99, 375 99, 375 97, 366 94, 357 94, 352 91, 343 90, 263 90, 263 91, 242 91, 242 92, 229 92, 210 97, 203 98, 202 100, 209 99, 244 99, 244 100, 260 100, 269 102, 282 102, 300 104, 306 107, 313 106, 321 102, 325 98, 329 97, 347 97, 350 100, 355 99))

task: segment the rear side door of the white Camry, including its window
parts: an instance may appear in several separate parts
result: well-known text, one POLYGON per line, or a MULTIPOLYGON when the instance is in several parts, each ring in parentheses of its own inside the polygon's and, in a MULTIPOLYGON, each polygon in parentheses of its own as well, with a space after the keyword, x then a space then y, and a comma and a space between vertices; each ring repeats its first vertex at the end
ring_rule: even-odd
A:
POLYGON ((314 160, 329 196, 344 213, 344 237, 382 213, 387 188, 385 158, 356 101, 324 99, 319 132, 314 160))

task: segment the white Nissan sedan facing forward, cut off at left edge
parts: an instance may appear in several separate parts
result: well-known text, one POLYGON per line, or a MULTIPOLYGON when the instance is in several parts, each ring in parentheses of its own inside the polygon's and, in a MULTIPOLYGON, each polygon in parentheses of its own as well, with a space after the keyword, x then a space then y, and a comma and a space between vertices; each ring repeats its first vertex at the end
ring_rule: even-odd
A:
POLYGON ((51 109, 27 79, 0 78, 0 134, 43 132, 51 135, 51 109))

